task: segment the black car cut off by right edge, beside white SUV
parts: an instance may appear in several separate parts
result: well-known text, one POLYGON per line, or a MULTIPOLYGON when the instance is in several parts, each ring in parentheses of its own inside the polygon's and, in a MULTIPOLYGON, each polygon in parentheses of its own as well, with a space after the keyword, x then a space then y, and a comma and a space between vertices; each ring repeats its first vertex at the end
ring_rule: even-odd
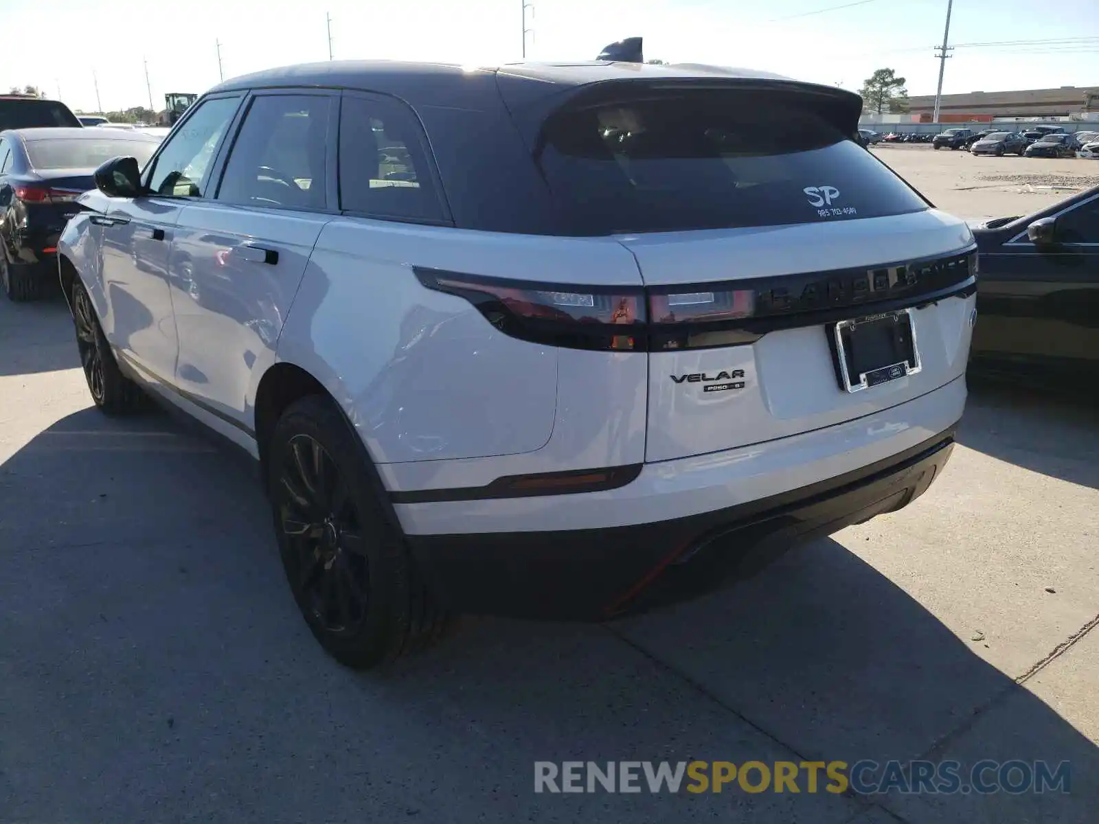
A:
POLYGON ((974 369, 1099 398, 1099 186, 974 235, 974 369))

